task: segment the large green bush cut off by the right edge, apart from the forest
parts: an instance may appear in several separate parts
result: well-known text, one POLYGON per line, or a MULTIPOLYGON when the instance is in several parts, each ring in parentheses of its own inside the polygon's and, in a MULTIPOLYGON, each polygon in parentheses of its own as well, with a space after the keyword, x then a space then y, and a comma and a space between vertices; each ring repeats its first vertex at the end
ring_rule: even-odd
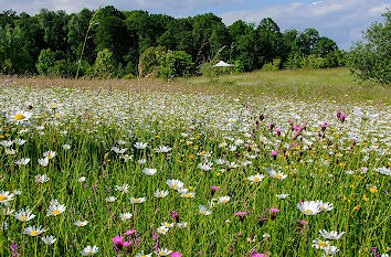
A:
POLYGON ((367 43, 357 42, 350 50, 348 66, 360 79, 391 84, 391 11, 383 23, 374 22, 366 31, 367 43))

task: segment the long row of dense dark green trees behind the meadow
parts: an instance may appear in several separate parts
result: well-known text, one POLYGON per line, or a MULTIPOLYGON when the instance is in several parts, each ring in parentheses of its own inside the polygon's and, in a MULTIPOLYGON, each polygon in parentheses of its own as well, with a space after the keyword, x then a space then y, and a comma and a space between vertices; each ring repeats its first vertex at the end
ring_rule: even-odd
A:
POLYGON ((316 29, 282 31, 271 18, 226 26, 213 13, 173 18, 112 6, 0 14, 2 74, 171 78, 208 74, 220 60, 240 73, 344 66, 347 53, 316 29))

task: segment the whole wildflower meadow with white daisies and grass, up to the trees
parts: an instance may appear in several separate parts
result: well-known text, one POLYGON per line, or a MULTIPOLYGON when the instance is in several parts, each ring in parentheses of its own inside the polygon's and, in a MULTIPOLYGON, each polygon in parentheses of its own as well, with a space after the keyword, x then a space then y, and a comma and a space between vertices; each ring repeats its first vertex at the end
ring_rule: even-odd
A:
POLYGON ((391 89, 346 68, 2 84, 1 256, 391 250, 391 89))

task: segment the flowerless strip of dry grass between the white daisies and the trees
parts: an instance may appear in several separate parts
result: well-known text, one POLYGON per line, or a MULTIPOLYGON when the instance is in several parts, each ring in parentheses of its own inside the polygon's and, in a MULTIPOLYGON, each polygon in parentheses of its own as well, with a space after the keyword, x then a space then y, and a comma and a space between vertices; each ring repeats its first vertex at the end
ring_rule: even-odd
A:
POLYGON ((290 99, 329 99, 337 104, 363 100, 373 104, 390 104, 391 88, 378 84, 355 82, 348 68, 316 71, 253 72, 220 77, 190 77, 175 81, 161 79, 65 79, 44 77, 12 77, 17 83, 39 87, 91 87, 116 89, 162 89, 203 92, 230 96, 284 97, 290 99))

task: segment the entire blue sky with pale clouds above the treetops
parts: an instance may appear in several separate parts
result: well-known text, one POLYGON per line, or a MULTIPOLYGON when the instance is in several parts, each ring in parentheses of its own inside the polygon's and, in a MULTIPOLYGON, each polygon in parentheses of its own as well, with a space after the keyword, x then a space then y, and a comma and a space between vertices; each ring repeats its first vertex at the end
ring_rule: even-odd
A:
POLYGON ((270 17, 282 30, 315 28, 320 35, 335 40, 346 50, 351 42, 361 39, 361 31, 372 21, 382 19, 381 12, 391 9, 391 0, 0 0, 0 10, 13 9, 31 14, 42 8, 77 12, 101 4, 173 17, 213 12, 228 25, 239 19, 257 23, 270 17))

